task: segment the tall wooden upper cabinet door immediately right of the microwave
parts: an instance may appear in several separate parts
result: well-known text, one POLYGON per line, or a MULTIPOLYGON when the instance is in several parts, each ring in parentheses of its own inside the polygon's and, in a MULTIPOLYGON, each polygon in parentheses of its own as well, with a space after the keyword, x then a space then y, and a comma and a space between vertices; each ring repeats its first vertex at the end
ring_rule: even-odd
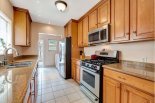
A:
POLYGON ((129 40, 129 0, 112 0, 113 41, 129 40))

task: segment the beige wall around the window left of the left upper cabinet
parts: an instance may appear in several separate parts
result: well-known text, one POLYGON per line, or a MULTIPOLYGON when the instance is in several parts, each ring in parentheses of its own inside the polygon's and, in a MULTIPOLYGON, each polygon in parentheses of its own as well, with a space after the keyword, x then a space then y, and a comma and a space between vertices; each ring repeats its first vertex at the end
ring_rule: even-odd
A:
MULTIPOLYGON (((13 6, 9 2, 9 0, 0 0, 0 11, 2 11, 11 21, 12 21, 12 37, 13 35, 13 20, 14 20, 14 12, 13 12, 13 6)), ((12 41, 14 39, 12 38, 12 41)), ((13 46, 17 49, 20 55, 22 55, 22 47, 19 46, 13 46)), ((15 56, 15 52, 13 51, 13 54, 15 56)))

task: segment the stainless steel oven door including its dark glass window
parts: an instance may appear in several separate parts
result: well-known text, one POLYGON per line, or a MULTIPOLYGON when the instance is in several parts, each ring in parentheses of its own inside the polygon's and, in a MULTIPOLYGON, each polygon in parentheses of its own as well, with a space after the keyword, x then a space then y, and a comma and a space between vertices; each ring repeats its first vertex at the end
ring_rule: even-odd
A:
POLYGON ((83 67, 81 68, 81 83, 97 97, 99 97, 100 75, 95 71, 83 67))

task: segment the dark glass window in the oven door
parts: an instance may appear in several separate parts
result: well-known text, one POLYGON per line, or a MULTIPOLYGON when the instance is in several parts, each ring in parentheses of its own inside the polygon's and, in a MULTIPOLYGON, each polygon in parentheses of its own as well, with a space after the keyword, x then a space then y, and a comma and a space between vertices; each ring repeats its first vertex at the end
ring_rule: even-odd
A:
POLYGON ((85 81, 91 87, 95 88, 95 75, 83 70, 83 81, 85 81))

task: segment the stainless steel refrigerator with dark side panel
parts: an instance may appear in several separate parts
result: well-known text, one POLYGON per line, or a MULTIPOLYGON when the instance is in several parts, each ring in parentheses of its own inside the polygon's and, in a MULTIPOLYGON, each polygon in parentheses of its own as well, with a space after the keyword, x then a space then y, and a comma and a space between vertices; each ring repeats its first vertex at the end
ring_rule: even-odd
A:
POLYGON ((65 79, 71 78, 71 38, 59 42, 59 73, 65 79))

